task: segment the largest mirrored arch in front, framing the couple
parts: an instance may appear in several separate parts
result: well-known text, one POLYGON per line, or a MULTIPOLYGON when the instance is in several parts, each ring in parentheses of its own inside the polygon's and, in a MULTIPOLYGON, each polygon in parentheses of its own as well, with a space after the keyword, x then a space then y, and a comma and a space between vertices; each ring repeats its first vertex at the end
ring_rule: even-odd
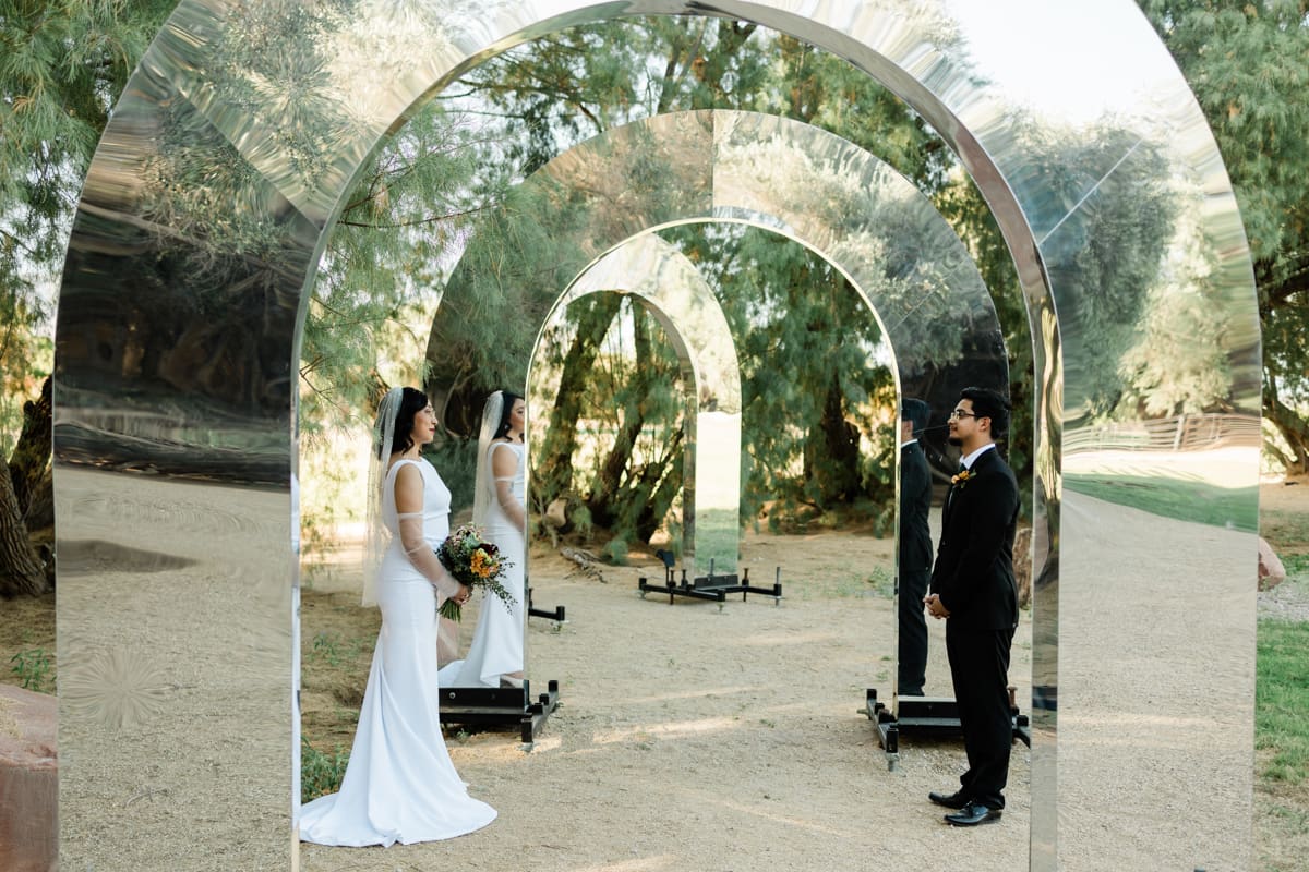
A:
MULTIPOLYGON (((1058 675, 1058 736, 1038 731, 1033 867, 1076 868, 1085 858, 1131 867, 1148 858, 1179 868, 1247 868, 1249 567, 1255 552, 1249 526, 1258 481, 1258 428, 1249 424, 1258 418, 1259 348, 1253 271, 1230 184, 1182 76, 1128 0, 1060 9, 1060 18, 1039 0, 1014 3, 1005 27, 983 26, 966 14, 967 5, 723 0, 713 13, 808 39, 906 99, 959 156, 1017 265, 1038 371, 1035 463, 1043 501, 1035 522, 1046 548, 1037 567, 1037 608, 1039 613, 1043 600, 1062 607, 1058 635, 1034 646, 1035 669, 1051 682, 1043 690, 1045 711, 1055 698, 1052 665, 1075 667, 1058 675), (966 42, 940 38, 941 13, 958 24, 966 42), (1089 22, 1113 33, 1119 51, 1063 38, 1089 22), (1028 51, 1038 42, 1063 47, 1058 65, 1043 67, 1028 51), (1132 63, 1124 64, 1124 52, 1132 63), (970 68, 970 55, 983 59, 980 69, 970 68), (1148 85, 1144 95, 1118 80, 1100 97, 1131 136, 1103 143, 1096 154, 1052 156, 1038 166, 1018 136, 1018 115, 1004 101, 1007 88, 975 75, 988 72, 986 59, 996 58, 1031 81, 1067 73, 1066 81, 1107 82, 1113 80, 1100 77, 1097 64, 1130 67, 1148 85), (1141 176, 1124 167, 1148 153, 1157 158, 1153 179, 1189 186, 1168 193, 1169 207, 1198 229, 1211 263, 1203 275, 1195 271, 1195 281, 1093 281, 1092 256, 1111 263, 1115 246, 1127 242, 1090 238, 1086 229, 1098 213, 1141 199, 1141 176), (1077 497, 1077 523, 1059 522, 1064 461, 1076 456, 1083 477, 1114 463, 1094 442, 1071 442, 1076 450, 1066 458, 1064 439, 1096 426, 1097 412, 1084 400, 1094 395, 1090 374, 1106 357, 1106 322, 1093 303, 1097 289, 1119 286, 1164 324, 1178 323, 1168 315, 1169 305, 1185 305, 1199 292, 1224 327, 1213 340, 1223 386, 1202 399, 1228 409, 1237 426, 1186 456, 1148 442, 1134 454, 1148 482, 1233 492, 1232 529, 1175 518, 1178 535, 1161 546, 1156 528, 1134 509, 1096 495, 1077 497), (1069 414, 1066 396, 1076 400, 1069 414), (1192 472, 1186 461, 1195 454, 1223 463, 1202 463, 1192 472), (1106 549, 1136 556, 1135 571, 1103 579, 1106 549), (1141 579, 1147 583, 1134 583, 1141 579), (1207 639, 1203 658, 1179 634, 1123 639, 1121 647, 1134 651, 1148 643, 1147 655, 1168 665, 1148 685, 1117 658, 1101 659, 1106 638, 1140 629, 1140 616, 1157 614, 1157 601, 1183 596, 1190 626, 1202 626, 1207 639), (1196 719, 1194 688, 1200 684, 1224 705, 1196 719), (1115 702, 1115 718, 1100 716, 1106 699, 1115 702), (1200 754, 1203 765, 1196 765, 1200 754), (1106 794, 1115 797, 1113 808, 1096 801, 1106 794), (1178 807, 1161 796, 1187 801, 1178 807), (1114 825, 1119 820, 1141 824, 1138 829, 1148 837, 1124 838, 1114 825)), ((387 131, 467 64, 572 24, 700 12, 699 4, 675 0, 350 8, 288 0, 229 18, 220 4, 185 0, 169 18, 115 107, 88 174, 56 327, 59 553, 65 561, 85 557, 64 562, 60 575, 64 862, 141 868, 147 847, 195 856, 202 835, 212 847, 206 864, 224 851, 232 867, 279 864, 288 855, 295 862, 296 842, 279 825, 287 820, 296 760, 289 741, 295 715, 287 706, 288 676, 297 668, 291 620, 293 382, 304 289, 342 199, 387 131), (297 99, 285 99, 288 93, 297 99), (195 196, 183 196, 188 193, 195 196), (154 475, 137 475, 143 471, 154 475), (213 484, 202 484, 196 494, 192 482, 213 484), (267 523, 251 529, 254 519, 267 523), (143 543, 147 522, 162 526, 143 543), (247 553, 267 560, 238 570, 233 546, 213 529, 230 532, 247 553), (281 546, 249 548, 257 537, 281 546), (171 608, 175 587, 152 588, 140 579, 141 571, 174 565, 177 557, 212 569, 211 583, 194 591, 204 597, 182 594, 203 605, 196 611, 207 622, 182 626, 195 614, 171 608), (119 573, 115 605, 128 612, 101 608, 94 592, 103 591, 105 570, 119 573), (185 652, 177 648, 182 637, 190 641, 185 652), (233 638, 249 655, 240 686, 202 668, 220 659, 213 645, 229 654, 233 638), (212 715, 215 699, 240 701, 211 723, 230 731, 250 767, 242 773, 249 774, 242 801, 230 807, 216 805, 186 767, 194 758, 185 753, 187 726, 212 715), (156 748, 170 750, 151 753, 143 732, 156 748), (272 762, 287 754, 285 769, 272 762), (103 821, 107 796, 161 761, 162 777, 175 787, 169 825, 103 821), (198 829, 178 821, 208 824, 198 829)), ((1077 103, 1058 93, 1034 94, 1030 102, 1038 129, 1067 122, 1077 103)), ((1128 320, 1140 318, 1141 306, 1128 307, 1128 320)), ((1198 384, 1200 374, 1183 378, 1198 384)), ((1127 422, 1147 424, 1158 414, 1111 395, 1109 400, 1109 411, 1127 422)), ((1067 482, 1077 484, 1076 477, 1067 482)))

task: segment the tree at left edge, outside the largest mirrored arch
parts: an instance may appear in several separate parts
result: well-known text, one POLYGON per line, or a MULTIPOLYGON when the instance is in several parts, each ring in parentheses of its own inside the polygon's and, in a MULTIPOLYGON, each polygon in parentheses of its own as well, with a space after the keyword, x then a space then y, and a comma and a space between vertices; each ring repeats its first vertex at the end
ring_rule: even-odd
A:
MULTIPOLYGON (((42 289, 54 284, 62 263, 73 204, 110 107, 173 5, 0 3, 0 383, 7 397, 30 396, 48 375, 42 289)), ((48 378, 42 396, 22 405, 24 435, 0 473, 4 596, 47 588, 27 523, 38 488, 48 482, 48 378)))

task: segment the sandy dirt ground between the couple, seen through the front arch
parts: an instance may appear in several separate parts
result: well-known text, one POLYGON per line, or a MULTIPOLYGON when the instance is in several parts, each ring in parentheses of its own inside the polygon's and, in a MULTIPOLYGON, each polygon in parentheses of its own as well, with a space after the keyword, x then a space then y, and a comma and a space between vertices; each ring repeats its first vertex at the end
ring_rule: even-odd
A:
MULTIPOLYGON (((868 537, 751 537, 744 565, 771 578, 783 562, 785 601, 751 597, 721 612, 641 600, 636 579, 661 575, 653 567, 605 569, 600 583, 534 556, 537 604, 563 604, 569 620, 559 631, 531 620, 530 675, 538 685, 558 679, 563 705, 531 753, 509 733, 449 740, 471 792, 500 818, 436 845, 305 845, 302 867, 798 871, 869 868, 876 856, 903 869, 1026 868, 1022 745, 1001 825, 961 833, 927 792, 957 784, 962 746, 906 740, 891 773, 860 714, 867 688, 890 688, 890 549, 868 537)), ((306 638, 335 631, 305 621, 306 638)), ((942 628, 932 629, 928 692, 946 693, 942 628)), ((1020 698, 1029 656, 1025 621, 1014 646, 1020 698)))

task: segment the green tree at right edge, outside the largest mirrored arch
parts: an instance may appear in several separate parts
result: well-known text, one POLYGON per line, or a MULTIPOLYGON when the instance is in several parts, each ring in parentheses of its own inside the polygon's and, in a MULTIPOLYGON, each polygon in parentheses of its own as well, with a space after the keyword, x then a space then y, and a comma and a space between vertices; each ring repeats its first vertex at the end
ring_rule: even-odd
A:
POLYGON ((1140 0, 1217 137, 1250 241, 1263 414, 1309 473, 1309 3, 1140 0))

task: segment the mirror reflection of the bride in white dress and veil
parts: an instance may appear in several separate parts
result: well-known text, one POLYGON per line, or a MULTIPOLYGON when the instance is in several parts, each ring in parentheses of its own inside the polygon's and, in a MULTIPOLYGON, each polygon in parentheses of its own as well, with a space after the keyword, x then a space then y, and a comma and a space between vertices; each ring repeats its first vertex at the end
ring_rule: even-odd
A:
POLYGON ((520 686, 522 684, 522 601, 525 529, 526 447, 522 430, 526 405, 521 396, 496 391, 487 397, 482 411, 482 433, 478 439, 476 490, 473 498, 473 523, 482 527, 486 539, 496 544, 511 562, 504 586, 513 595, 513 605, 496 596, 482 600, 476 630, 469 656, 441 668, 441 685, 446 688, 520 686))

